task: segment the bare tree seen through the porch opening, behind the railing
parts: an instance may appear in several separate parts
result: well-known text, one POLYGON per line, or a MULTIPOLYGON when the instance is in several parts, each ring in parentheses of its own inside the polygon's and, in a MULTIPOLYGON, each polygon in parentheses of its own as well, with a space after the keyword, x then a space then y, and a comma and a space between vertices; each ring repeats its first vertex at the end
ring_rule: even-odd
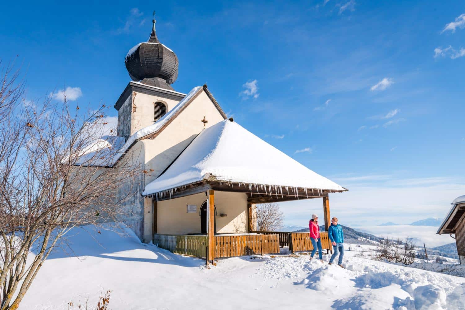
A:
POLYGON ((257 204, 252 214, 257 231, 276 231, 283 226, 284 213, 278 204, 257 204))

